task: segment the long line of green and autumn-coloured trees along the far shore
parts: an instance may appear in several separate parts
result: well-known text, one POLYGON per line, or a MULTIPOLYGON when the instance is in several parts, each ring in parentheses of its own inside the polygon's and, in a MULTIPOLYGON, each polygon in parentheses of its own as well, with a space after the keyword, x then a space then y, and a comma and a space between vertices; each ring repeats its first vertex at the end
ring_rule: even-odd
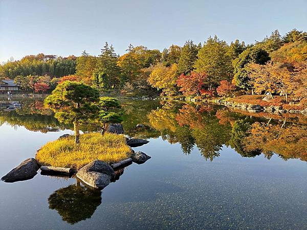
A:
MULTIPOLYGON (((284 36, 275 30, 254 44, 239 40, 228 44, 217 36, 203 44, 191 40, 183 47, 173 44, 162 52, 130 44, 121 56, 106 42, 98 56, 86 51, 79 57, 26 56, 1 65, 0 76, 17 79, 18 83, 20 78, 31 79, 30 75, 49 76, 50 89, 58 81, 73 80, 131 95, 158 90, 164 96, 269 93, 272 97, 286 96, 286 100, 288 96, 301 99, 307 95, 306 50, 307 33, 296 29, 284 36)), ((27 85, 33 88, 24 84, 25 88, 27 85)))

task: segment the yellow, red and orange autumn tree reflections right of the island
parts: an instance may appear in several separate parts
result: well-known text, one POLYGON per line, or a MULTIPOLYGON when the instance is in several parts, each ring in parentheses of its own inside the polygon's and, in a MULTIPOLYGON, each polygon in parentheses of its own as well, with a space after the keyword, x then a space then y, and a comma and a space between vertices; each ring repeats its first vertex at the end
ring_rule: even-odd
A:
POLYGON ((225 108, 214 111, 212 107, 190 104, 170 108, 152 110, 148 114, 150 124, 164 140, 180 143, 186 154, 196 145, 204 158, 212 160, 220 155, 223 145, 230 145, 244 157, 263 152, 267 158, 277 153, 283 159, 307 160, 307 126, 276 121, 267 124, 264 118, 225 108))

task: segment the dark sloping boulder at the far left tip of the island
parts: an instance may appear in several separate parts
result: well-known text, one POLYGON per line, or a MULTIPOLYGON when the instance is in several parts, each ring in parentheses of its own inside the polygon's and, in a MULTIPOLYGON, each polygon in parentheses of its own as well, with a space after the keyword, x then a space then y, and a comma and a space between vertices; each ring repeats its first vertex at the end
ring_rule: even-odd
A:
POLYGON ((37 174, 38 169, 39 164, 37 163, 36 159, 28 158, 21 162, 16 168, 12 169, 1 179, 5 182, 32 179, 37 174))

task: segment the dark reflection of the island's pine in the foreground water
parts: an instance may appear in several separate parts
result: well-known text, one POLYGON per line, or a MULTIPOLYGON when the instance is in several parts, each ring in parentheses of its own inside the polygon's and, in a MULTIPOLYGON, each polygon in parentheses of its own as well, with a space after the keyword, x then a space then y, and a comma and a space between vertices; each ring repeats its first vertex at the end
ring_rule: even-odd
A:
POLYGON ((101 191, 81 185, 56 190, 49 198, 49 209, 55 209, 70 224, 91 218, 101 204, 101 191))

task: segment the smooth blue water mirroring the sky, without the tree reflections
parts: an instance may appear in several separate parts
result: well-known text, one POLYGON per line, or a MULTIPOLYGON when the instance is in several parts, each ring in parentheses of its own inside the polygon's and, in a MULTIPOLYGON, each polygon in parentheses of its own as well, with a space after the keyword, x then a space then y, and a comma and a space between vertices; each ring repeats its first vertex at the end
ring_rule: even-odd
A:
MULTIPOLYGON (((0 174, 69 132, 41 133, 2 125, 0 174)), ((27 181, 1 182, 1 228, 223 228, 231 224, 289 228, 306 224, 307 167, 298 159, 284 161, 276 155, 270 160, 263 155, 244 158, 224 147, 221 156, 210 162, 197 148, 184 155, 179 144, 170 145, 161 138, 135 150, 152 158, 127 167, 118 181, 102 191, 102 203, 92 218, 73 226, 49 210, 48 197, 75 179, 38 174, 27 181)))

